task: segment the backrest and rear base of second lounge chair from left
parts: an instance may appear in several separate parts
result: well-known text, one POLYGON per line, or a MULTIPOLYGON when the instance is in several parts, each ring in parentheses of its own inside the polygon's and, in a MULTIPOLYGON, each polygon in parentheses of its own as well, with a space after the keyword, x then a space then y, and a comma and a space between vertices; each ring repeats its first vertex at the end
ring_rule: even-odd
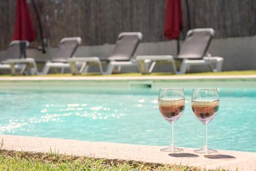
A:
POLYGON ((60 68, 61 73, 63 73, 66 68, 70 68, 68 59, 73 57, 81 41, 82 39, 80 37, 62 38, 57 52, 46 62, 41 74, 47 74, 51 68, 55 69, 55 72, 57 72, 57 68, 60 68))

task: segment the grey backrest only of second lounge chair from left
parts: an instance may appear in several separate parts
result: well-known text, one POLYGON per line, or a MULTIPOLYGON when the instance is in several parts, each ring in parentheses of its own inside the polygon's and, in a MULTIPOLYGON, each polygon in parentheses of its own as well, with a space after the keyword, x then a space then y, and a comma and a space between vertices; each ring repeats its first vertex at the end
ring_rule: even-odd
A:
POLYGON ((67 62, 67 59, 72 57, 77 47, 81 44, 80 37, 65 37, 60 40, 57 52, 52 56, 52 62, 67 62))

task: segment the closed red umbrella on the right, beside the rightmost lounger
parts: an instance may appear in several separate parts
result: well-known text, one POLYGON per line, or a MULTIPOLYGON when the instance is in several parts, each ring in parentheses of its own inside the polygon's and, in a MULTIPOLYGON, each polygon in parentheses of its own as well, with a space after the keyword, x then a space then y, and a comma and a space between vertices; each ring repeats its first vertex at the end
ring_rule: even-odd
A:
POLYGON ((166 0, 164 36, 166 39, 177 39, 179 53, 179 35, 183 28, 181 0, 166 0))

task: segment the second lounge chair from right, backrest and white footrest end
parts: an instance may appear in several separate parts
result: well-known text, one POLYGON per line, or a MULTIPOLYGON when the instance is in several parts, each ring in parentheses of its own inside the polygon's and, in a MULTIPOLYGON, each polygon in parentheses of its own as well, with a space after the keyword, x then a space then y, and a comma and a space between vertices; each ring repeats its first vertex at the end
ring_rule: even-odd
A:
POLYGON ((108 68, 106 72, 103 72, 101 60, 99 57, 74 57, 69 59, 72 74, 81 74, 87 71, 89 66, 98 65, 102 74, 112 74, 115 67, 118 67, 120 71, 121 67, 136 67, 139 69, 136 60, 132 57, 142 40, 142 34, 140 32, 123 32, 118 35, 115 48, 110 57, 106 58, 108 61, 108 68), (77 70, 77 63, 83 63, 80 70, 77 70))

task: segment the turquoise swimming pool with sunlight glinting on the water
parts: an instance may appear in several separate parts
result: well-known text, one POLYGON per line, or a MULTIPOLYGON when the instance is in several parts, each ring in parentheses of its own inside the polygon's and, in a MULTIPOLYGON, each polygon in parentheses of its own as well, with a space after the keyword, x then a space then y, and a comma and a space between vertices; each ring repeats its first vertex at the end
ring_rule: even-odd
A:
POLYGON ((158 111, 158 90, 183 87, 186 108, 175 122, 175 144, 202 147, 203 124, 191 111, 191 92, 218 86, 220 110, 208 124, 209 147, 256 152, 254 80, 158 81, 152 89, 53 82, 2 82, 0 134, 168 145, 170 125, 158 111))

